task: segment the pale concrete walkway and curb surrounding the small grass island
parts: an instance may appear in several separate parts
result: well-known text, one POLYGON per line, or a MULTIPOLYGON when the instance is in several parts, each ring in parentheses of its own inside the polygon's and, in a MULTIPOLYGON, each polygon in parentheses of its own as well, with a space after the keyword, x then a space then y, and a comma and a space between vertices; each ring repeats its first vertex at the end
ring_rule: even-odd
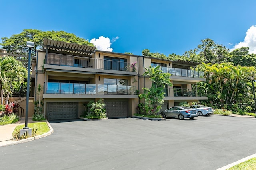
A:
POLYGON ((50 131, 45 134, 38 135, 36 137, 30 137, 28 139, 22 139, 22 140, 15 140, 12 137, 12 132, 14 131, 16 126, 24 125, 24 127, 25 127, 25 117, 22 117, 21 120, 17 121, 16 123, 12 123, 12 124, 8 124, 8 125, 0 125, 0 147, 35 140, 35 139, 38 139, 41 137, 48 136, 53 132, 53 129, 47 120, 32 121, 32 117, 28 117, 28 123, 35 123, 35 122, 46 122, 50 128, 50 131))

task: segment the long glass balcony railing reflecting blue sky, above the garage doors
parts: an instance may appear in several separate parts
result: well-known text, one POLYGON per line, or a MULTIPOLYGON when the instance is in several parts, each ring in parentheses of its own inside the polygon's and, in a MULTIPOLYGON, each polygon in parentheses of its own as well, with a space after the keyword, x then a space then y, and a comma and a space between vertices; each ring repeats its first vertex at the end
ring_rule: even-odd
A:
POLYGON ((45 82, 44 94, 136 94, 136 86, 45 82))

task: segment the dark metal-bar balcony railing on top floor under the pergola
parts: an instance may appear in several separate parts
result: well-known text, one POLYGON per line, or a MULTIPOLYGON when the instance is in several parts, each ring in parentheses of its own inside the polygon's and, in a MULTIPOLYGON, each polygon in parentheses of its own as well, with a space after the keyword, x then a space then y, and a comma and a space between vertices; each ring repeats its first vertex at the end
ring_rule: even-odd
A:
POLYGON ((45 64, 136 72, 136 70, 132 67, 132 63, 128 62, 102 60, 90 57, 78 57, 54 53, 46 53, 45 64))

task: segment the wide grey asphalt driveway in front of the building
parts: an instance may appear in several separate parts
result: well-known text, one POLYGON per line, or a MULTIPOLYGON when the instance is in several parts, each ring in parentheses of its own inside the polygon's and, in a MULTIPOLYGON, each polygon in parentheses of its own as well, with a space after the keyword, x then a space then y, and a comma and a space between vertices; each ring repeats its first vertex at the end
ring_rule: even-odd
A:
POLYGON ((256 118, 50 124, 48 137, 0 147, 1 169, 215 170, 256 153, 256 118))

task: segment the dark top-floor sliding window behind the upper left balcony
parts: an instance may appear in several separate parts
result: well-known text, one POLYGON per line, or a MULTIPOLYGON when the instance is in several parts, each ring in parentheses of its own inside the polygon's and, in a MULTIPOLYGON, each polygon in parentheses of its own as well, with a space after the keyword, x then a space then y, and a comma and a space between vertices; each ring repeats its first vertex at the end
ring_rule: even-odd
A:
POLYGON ((127 59, 104 56, 105 70, 120 70, 126 71, 127 59))

